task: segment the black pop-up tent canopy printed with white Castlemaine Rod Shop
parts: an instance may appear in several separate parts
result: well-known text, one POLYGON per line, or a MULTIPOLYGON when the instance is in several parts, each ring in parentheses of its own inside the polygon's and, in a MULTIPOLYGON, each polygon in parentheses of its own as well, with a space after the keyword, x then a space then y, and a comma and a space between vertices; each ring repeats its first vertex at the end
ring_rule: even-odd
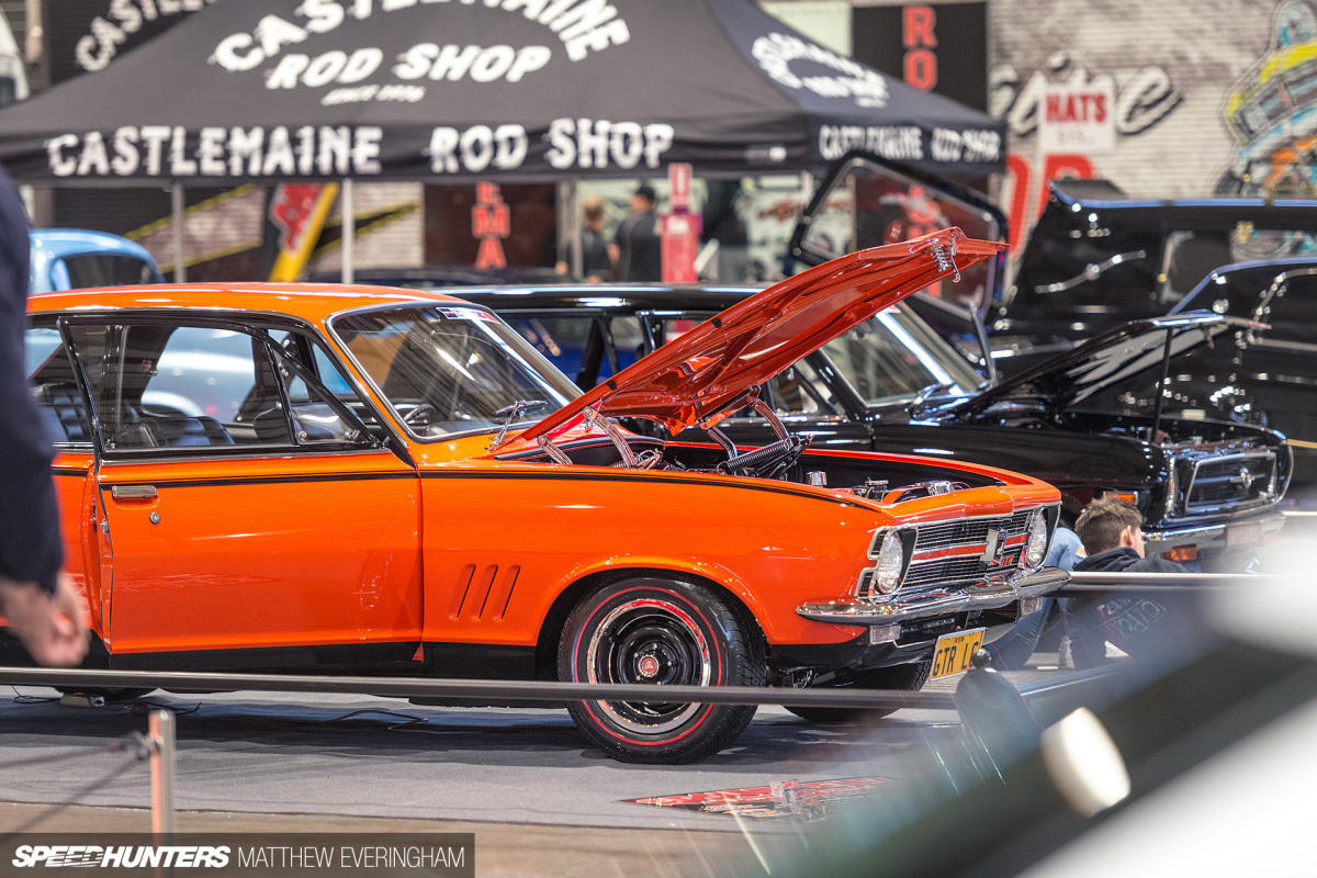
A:
POLYGON ((855 147, 1005 162, 989 116, 749 0, 225 0, 0 112, 0 163, 62 186, 744 175, 855 147))

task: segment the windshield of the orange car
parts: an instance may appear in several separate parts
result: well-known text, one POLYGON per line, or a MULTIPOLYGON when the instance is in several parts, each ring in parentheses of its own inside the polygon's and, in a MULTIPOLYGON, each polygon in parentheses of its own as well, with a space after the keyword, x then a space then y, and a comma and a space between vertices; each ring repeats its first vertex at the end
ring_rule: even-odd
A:
POLYGON ((529 423, 579 396, 562 373, 498 317, 468 305, 341 315, 333 333, 417 438, 497 429, 504 409, 529 423))

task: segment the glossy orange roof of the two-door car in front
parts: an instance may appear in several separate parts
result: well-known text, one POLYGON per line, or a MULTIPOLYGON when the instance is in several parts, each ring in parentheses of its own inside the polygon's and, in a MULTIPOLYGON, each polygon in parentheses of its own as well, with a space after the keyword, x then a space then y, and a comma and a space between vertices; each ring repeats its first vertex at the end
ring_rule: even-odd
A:
POLYGON ((117 308, 183 308, 194 311, 261 312, 324 323, 358 308, 391 304, 457 301, 427 290, 332 283, 186 283, 141 287, 95 287, 41 292, 28 299, 28 311, 90 311, 117 308))

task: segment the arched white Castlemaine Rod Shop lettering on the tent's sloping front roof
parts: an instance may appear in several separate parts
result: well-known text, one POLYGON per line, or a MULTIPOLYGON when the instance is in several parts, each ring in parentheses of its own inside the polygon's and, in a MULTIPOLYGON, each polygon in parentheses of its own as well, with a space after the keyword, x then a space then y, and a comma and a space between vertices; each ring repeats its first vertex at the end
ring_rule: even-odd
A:
MULTIPOLYGON (((122 0, 120 0, 122 1, 122 0)), ((150 0, 141 0, 149 3, 150 0)), ((202 0, 191 0, 200 3, 202 0)), ((213 0, 205 0, 213 3, 213 0)), ((449 0, 421 0, 421 3, 448 3, 449 0)), ((461 0, 462 5, 474 5, 475 0, 461 0)), ((415 7, 416 0, 381 0, 381 12, 394 12, 415 7)), ((620 46, 631 39, 631 30, 624 18, 618 16, 618 8, 610 5, 607 0, 483 0, 486 8, 502 9, 503 12, 520 12, 523 17, 541 24, 552 30, 562 42, 568 59, 583 61, 591 51, 603 51, 608 46, 620 46)), ((234 33, 224 37, 215 45, 215 53, 209 62, 219 65, 229 72, 242 72, 254 70, 267 61, 278 57, 286 46, 299 43, 311 34, 323 34, 336 30, 350 18, 358 21, 374 14, 373 0, 303 0, 294 11, 294 16, 304 20, 296 24, 279 16, 267 14, 252 29, 250 33, 234 33)), ((107 37, 111 39, 111 37, 107 37)), ((111 39, 112 41, 112 39, 111 39)), ((120 39, 121 42, 122 39, 120 39)), ((337 51, 337 50, 336 50, 337 51)), ((357 53, 381 53, 375 47, 358 49, 357 53)), ((325 58, 335 53, 325 53, 315 62, 308 55, 286 55, 269 79, 278 84, 270 88, 291 88, 284 84, 303 78, 312 70, 319 71, 313 79, 324 78, 328 82, 358 82, 375 71, 361 74, 357 79, 342 79, 344 70, 352 70, 352 62, 346 62, 342 68, 336 70, 340 63, 337 51, 335 58, 325 58), (294 61, 296 58, 296 61, 294 61), (320 67, 316 67, 316 63, 320 67)), ((356 53, 354 53, 356 55, 356 53)), ((475 82, 494 82, 507 79, 507 82, 520 82, 528 72, 533 72, 549 62, 552 51, 548 46, 444 46, 440 49, 431 42, 419 43, 404 51, 399 57, 399 63, 392 68, 394 75, 402 79, 449 79, 456 82, 468 71, 475 82)), ((852 62, 853 63, 853 62, 852 62)), ((269 83, 267 83, 269 84, 269 83)), ((881 83, 880 83, 881 84, 881 83)), ((811 86, 814 87, 814 86, 811 86)), ((819 88, 835 90, 838 86, 822 83, 819 88)), ((885 90, 885 86, 884 86, 885 90)))

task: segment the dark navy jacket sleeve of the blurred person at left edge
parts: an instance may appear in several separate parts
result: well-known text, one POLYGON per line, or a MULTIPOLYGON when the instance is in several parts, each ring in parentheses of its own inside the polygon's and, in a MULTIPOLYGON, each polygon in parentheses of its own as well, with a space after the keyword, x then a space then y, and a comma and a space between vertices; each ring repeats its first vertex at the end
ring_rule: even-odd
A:
POLYGON ((63 563, 53 449, 22 362, 30 246, 18 191, 0 168, 0 575, 53 594, 63 563))

